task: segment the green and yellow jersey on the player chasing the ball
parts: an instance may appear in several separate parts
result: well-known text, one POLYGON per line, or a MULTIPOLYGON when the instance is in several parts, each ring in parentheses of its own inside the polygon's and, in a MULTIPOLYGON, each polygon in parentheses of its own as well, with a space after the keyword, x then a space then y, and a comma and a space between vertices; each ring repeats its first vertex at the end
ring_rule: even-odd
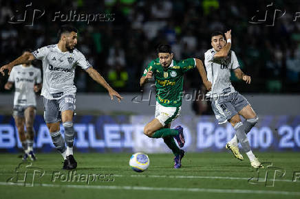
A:
POLYGON ((195 59, 172 60, 171 65, 164 69, 160 60, 152 60, 143 76, 153 71, 156 81, 156 101, 162 106, 179 107, 183 97, 183 75, 186 71, 195 68, 195 59))

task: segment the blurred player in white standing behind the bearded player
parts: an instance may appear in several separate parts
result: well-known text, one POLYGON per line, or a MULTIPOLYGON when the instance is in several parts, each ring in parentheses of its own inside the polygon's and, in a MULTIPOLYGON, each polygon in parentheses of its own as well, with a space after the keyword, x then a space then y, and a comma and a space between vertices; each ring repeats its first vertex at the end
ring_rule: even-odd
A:
POLYGON ((15 66, 4 89, 12 89, 13 84, 15 91, 12 115, 24 150, 23 161, 27 161, 28 157, 30 160, 35 161, 33 124, 36 113, 36 99, 34 92, 41 90, 41 70, 34 68, 30 61, 15 66), (26 133, 24 125, 26 126, 26 133))

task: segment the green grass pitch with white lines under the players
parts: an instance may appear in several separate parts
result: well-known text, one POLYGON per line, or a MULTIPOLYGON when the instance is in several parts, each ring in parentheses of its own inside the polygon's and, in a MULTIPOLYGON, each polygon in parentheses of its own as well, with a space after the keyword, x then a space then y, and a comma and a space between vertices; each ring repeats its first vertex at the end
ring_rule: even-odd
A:
POLYGON ((75 153, 72 173, 60 154, 37 154, 18 174, 17 154, 0 154, 0 198, 300 198, 299 152, 256 154, 265 169, 228 152, 187 153, 181 169, 172 154, 149 154, 142 173, 130 169, 131 154, 75 153))

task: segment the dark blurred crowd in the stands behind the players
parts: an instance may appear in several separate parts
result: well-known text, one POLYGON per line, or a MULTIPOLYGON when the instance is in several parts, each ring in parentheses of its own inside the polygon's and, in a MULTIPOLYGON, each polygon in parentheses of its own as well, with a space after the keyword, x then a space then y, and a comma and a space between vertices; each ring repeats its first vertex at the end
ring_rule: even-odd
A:
MULTIPOLYGON (((211 49, 211 32, 231 29, 232 49, 242 70, 253 78, 252 84, 246 85, 233 77, 238 91, 300 93, 300 16, 293 21, 300 12, 297 1, 50 0, 29 1, 32 4, 26 8, 29 3, 23 1, 0 2, 1 65, 20 56, 23 49, 57 43, 58 27, 71 23, 78 29, 78 49, 111 86, 120 92, 138 92, 142 71, 156 58, 158 44, 169 43, 175 59, 204 60, 204 52, 211 49), (275 9, 282 12, 275 12, 273 17, 275 9), (21 18, 20 13, 25 10, 28 11, 25 22, 10 23, 16 17, 21 18), (34 10, 41 12, 36 12, 32 21, 34 10), (43 10, 45 13, 37 19, 43 10), (266 21, 253 23, 258 18, 264 19, 266 10, 266 21), (55 18, 57 14, 74 11, 107 15, 102 21, 89 23, 84 19, 68 22, 63 17, 55 18)), ((33 64, 41 67, 40 61, 33 64)), ((7 77, 0 80, 3 92, 7 77)), ((201 85, 196 69, 186 73, 184 89, 200 89, 201 85)), ((78 92, 104 91, 82 69, 77 70, 76 86, 78 92)))

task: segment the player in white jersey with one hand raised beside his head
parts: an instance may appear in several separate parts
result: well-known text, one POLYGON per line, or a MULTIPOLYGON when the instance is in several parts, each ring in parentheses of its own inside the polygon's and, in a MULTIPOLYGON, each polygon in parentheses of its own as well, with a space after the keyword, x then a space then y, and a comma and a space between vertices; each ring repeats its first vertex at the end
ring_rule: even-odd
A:
POLYGON ((239 153, 237 143, 241 143, 242 149, 246 152, 252 167, 262 167, 258 159, 253 154, 247 133, 255 126, 258 117, 251 108, 250 104, 243 95, 240 95, 231 84, 231 70, 239 80, 244 80, 250 84, 251 78, 245 75, 239 69, 239 62, 235 52, 231 50, 231 30, 225 33, 214 32, 211 35, 212 49, 204 54, 204 64, 207 71, 208 81, 212 82, 211 91, 208 95, 211 99, 211 106, 219 124, 229 121, 235 128, 235 137, 226 143, 226 149, 231 150, 234 156, 243 160, 242 154, 239 153), (246 120, 242 123, 239 115, 246 120))

